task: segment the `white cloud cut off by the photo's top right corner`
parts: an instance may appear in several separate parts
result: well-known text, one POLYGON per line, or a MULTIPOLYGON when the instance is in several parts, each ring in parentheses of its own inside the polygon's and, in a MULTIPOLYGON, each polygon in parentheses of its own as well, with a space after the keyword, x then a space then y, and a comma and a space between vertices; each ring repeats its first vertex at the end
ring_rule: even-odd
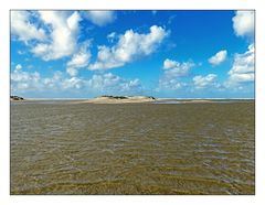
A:
POLYGON ((254 11, 236 11, 232 19, 234 32, 237 36, 252 36, 255 31, 254 11))

